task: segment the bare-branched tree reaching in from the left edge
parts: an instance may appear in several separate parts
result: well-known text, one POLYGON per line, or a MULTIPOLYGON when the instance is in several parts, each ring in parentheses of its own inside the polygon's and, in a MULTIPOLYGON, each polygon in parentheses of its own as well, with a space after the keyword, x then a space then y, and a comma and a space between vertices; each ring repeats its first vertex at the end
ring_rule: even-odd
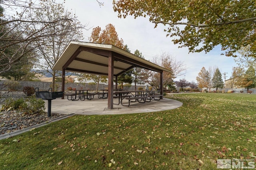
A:
MULTIPOLYGON (((40 2, 43 1, 45 3, 52 2, 46 0, 40 2)), ((28 53, 43 45, 34 43, 35 41, 47 42, 45 40, 60 35, 61 31, 54 29, 53 25, 63 26, 74 19, 60 15, 47 20, 48 18, 42 17, 42 14, 49 12, 49 7, 40 6, 30 0, 1 0, 0 6, 5 9, 0 22, 0 73, 10 70, 14 64, 29 60, 30 58, 24 58, 24 56, 28 57, 28 53), (49 30, 51 31, 49 32, 49 30), (12 48, 12 53, 8 53, 10 48, 12 48), (8 59, 7 62, 2 62, 4 59, 8 59)), ((57 12, 52 13, 56 14, 57 12)), ((30 57, 38 56, 31 55, 30 57)))

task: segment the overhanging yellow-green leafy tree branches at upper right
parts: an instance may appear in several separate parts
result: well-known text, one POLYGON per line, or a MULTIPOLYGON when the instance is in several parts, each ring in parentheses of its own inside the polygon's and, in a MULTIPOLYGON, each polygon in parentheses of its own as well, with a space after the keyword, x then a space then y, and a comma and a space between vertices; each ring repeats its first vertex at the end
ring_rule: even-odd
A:
POLYGON ((166 36, 190 52, 206 53, 217 45, 227 56, 250 45, 256 52, 256 6, 253 0, 114 0, 118 17, 148 17, 166 25, 166 36))

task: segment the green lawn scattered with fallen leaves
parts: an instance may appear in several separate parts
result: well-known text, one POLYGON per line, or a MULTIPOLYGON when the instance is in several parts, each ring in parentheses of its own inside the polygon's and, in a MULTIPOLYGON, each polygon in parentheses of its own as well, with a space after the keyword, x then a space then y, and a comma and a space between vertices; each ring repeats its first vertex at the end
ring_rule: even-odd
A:
POLYGON ((256 95, 170 98, 183 106, 153 113, 75 115, 1 140, 0 169, 210 170, 217 169, 217 159, 256 162, 256 95))

